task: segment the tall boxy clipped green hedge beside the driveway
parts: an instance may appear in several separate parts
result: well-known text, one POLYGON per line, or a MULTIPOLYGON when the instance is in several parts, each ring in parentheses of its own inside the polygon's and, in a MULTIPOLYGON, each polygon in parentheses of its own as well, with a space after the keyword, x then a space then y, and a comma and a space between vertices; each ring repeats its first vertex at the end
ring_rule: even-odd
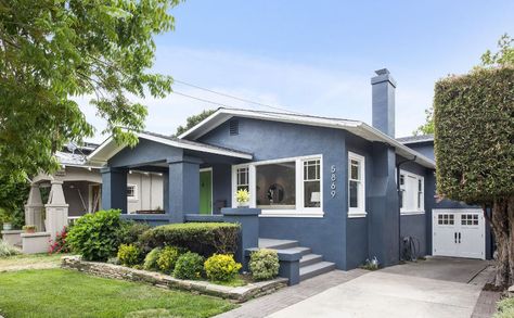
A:
POLYGON ((436 84, 437 191, 487 204, 514 194, 514 68, 479 68, 436 84))

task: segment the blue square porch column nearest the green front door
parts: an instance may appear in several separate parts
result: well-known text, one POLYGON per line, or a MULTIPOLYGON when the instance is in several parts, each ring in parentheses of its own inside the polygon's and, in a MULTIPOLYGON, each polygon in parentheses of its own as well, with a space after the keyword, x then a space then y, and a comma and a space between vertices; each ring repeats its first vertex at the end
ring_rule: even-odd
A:
MULTIPOLYGON (((168 158, 166 213, 172 222, 182 222, 184 214, 200 213, 200 164, 195 157, 168 158)), ((165 178, 166 181, 166 178, 165 178)), ((166 186, 164 187, 166 189, 166 186)), ((165 203, 166 206, 166 203, 165 203)))

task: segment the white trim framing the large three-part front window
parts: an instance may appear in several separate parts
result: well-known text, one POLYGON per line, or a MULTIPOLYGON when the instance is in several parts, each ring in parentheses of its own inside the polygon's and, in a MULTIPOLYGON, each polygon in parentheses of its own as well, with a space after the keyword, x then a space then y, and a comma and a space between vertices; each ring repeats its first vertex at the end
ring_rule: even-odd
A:
POLYGON ((249 206, 257 207, 256 204, 256 167, 260 165, 278 164, 284 162, 295 162, 295 191, 296 191, 296 208, 294 209, 266 209, 261 211, 260 217, 313 217, 320 218, 324 216, 323 212, 323 155, 313 154, 307 156, 284 157, 278 160, 252 162, 232 166, 232 207, 236 207, 235 188, 237 183, 237 168, 248 167, 248 188, 249 188, 249 206), (320 161, 320 206, 303 207, 304 205, 304 162, 309 160, 320 161))

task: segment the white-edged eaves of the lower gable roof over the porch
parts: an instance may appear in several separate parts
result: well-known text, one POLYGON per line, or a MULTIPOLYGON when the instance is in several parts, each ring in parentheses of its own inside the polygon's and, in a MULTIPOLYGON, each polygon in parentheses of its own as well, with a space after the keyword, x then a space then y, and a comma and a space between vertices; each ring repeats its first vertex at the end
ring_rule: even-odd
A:
MULTIPOLYGON (((219 154, 231 157, 239 157, 244 160, 252 160, 253 155, 241 151, 235 151, 227 148, 209 145, 190 140, 181 140, 175 137, 164 136, 150 131, 138 132, 137 136, 140 139, 146 139, 163 143, 166 145, 181 148, 187 150, 193 150, 198 152, 219 154)), ((113 137, 107 138, 102 142, 90 155, 88 155, 88 162, 94 164, 105 164, 112 156, 121 151, 126 145, 118 144, 113 137)))

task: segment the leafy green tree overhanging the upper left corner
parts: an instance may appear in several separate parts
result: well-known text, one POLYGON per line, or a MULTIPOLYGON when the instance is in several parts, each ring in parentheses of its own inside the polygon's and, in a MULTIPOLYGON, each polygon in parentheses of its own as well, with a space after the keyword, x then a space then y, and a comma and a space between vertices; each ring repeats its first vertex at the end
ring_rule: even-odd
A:
POLYGON ((0 0, 0 176, 53 173, 56 150, 91 137, 80 96, 93 96, 105 132, 134 145, 146 107, 128 96, 171 91, 171 77, 149 68, 153 36, 174 28, 168 10, 178 3, 0 0))

